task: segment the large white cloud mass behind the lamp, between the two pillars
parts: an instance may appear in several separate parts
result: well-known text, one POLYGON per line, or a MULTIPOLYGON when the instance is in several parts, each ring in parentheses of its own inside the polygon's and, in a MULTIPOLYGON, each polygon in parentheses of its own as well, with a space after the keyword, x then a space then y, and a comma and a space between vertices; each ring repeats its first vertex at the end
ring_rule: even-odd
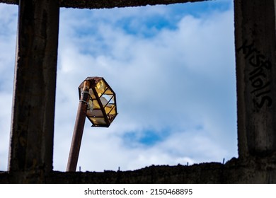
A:
MULTIPOLYGON (((125 11, 127 15, 130 10, 105 10, 108 14, 95 23, 93 11, 87 12, 81 24, 93 24, 93 33, 80 34, 79 23, 61 22, 58 79, 70 79, 67 89, 73 91, 68 91, 67 98, 74 98, 74 110, 76 87, 86 76, 104 76, 117 93, 119 115, 109 129, 90 128, 86 123, 79 157, 82 170, 117 170, 119 166, 133 170, 236 156, 233 11, 216 11, 205 18, 183 16, 176 28, 162 28, 150 37, 139 33, 137 27, 144 21, 137 18, 133 20, 138 33, 117 25, 120 12, 125 11), (115 17, 110 19, 110 15, 115 17), (78 36, 71 39, 65 32, 78 36), (149 131, 167 134, 147 145, 141 139, 149 131), (126 140, 125 135, 131 133, 135 137, 126 140)), ((65 16, 67 12, 71 13, 64 11, 65 16)), ((72 114, 70 110, 67 115, 72 114)), ((57 126, 57 131, 62 129, 57 126)), ((66 132, 67 146, 63 144, 63 151, 55 149, 57 170, 66 166, 67 156, 62 162, 59 155, 66 148, 69 152, 71 132, 66 132)), ((55 140, 59 142, 62 136, 61 132, 55 140)))

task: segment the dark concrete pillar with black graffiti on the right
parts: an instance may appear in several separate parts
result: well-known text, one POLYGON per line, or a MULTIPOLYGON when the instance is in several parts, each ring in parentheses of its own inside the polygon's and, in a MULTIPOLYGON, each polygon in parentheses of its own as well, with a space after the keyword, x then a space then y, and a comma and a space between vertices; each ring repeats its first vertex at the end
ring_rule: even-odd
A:
POLYGON ((275 0, 235 0, 238 153, 276 151, 275 0))

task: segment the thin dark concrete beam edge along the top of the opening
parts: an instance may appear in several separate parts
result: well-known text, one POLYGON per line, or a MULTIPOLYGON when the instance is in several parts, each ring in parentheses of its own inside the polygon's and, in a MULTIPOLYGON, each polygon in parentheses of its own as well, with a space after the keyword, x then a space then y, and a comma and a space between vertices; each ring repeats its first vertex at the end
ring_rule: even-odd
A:
MULTIPOLYGON (((61 7, 65 8, 115 8, 115 7, 127 7, 127 6, 146 6, 146 5, 156 5, 156 4, 178 4, 178 3, 187 3, 187 2, 197 2, 197 1, 211 1, 211 0, 98 0, 98 1, 89 1, 89 0, 59 0, 61 7)), ((0 3, 6 4, 18 4, 18 0, 0 0, 0 3)))

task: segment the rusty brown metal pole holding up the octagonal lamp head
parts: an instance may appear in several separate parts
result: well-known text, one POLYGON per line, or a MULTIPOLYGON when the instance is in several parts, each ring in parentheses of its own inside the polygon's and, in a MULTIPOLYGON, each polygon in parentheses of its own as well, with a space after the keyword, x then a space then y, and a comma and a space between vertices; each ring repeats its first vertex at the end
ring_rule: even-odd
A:
POLYGON ((90 81, 84 82, 84 89, 79 100, 78 112, 76 115, 76 122, 74 127, 73 138, 71 141, 71 148, 67 163, 67 172, 75 172, 76 165, 79 158, 79 150, 81 148, 81 139, 84 132, 84 123, 86 120, 87 103, 89 100, 90 81))

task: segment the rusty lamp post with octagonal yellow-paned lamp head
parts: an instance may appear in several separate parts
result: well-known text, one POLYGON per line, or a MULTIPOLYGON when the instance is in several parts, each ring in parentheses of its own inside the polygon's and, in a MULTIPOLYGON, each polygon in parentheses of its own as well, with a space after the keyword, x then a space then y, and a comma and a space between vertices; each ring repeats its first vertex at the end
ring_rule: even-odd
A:
POLYGON ((88 77, 79 86, 79 107, 76 115, 67 172, 76 171, 86 117, 92 127, 109 127, 117 116, 116 95, 102 77, 88 77))

